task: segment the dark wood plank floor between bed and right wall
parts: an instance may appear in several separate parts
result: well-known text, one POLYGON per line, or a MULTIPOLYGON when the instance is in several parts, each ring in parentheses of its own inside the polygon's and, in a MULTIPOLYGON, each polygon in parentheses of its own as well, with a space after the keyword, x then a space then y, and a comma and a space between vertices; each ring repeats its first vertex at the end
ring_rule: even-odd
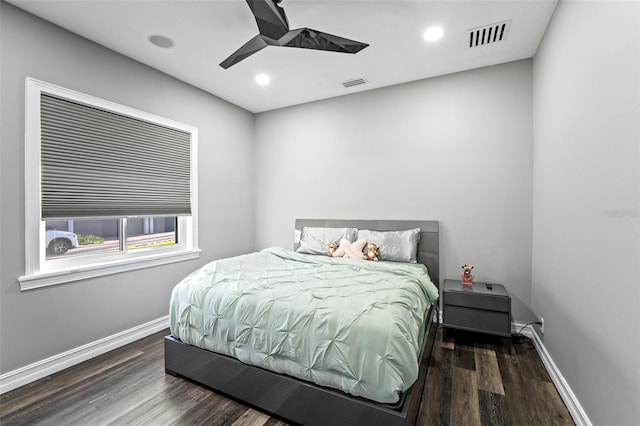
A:
POLYGON ((573 425, 533 345, 442 330, 433 350, 420 425, 573 425))

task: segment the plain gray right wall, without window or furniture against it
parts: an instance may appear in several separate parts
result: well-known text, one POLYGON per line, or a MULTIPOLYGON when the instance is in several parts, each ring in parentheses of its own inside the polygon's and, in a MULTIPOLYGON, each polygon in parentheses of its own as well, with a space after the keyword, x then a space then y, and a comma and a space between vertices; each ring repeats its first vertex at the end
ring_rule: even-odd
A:
POLYGON ((560 2, 533 67, 533 305, 595 425, 640 418, 639 12, 560 2))

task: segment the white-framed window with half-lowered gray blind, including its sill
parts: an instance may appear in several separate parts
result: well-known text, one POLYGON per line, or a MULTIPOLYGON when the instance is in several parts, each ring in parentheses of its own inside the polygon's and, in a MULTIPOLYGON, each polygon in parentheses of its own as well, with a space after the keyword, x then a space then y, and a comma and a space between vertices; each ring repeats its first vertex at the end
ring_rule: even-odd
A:
POLYGON ((197 129, 27 78, 30 289, 193 259, 197 129))

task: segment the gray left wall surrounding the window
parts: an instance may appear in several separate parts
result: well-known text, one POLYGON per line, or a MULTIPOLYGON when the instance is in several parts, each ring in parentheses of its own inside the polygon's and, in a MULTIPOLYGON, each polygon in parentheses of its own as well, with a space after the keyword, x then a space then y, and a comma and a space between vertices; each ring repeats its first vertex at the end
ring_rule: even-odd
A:
POLYGON ((253 115, 7 3, 0 7, 0 373, 5 373, 163 317, 171 288, 188 272, 253 249, 253 115), (20 291, 26 76, 198 127, 199 260, 20 291))

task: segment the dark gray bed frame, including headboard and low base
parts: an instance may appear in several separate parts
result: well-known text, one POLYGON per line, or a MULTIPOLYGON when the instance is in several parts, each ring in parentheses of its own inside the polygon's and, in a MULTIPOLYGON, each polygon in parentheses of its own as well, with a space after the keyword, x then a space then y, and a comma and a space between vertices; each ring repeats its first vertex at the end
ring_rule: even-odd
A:
MULTIPOLYGON (((420 228, 418 262, 439 286, 437 221, 298 219, 303 226, 355 227, 378 231, 420 228)), ((380 404, 336 389, 244 364, 235 358, 165 337, 165 371, 211 388, 288 422, 303 425, 414 425, 420 408, 437 324, 437 302, 429 310, 418 380, 396 404, 380 404)))

